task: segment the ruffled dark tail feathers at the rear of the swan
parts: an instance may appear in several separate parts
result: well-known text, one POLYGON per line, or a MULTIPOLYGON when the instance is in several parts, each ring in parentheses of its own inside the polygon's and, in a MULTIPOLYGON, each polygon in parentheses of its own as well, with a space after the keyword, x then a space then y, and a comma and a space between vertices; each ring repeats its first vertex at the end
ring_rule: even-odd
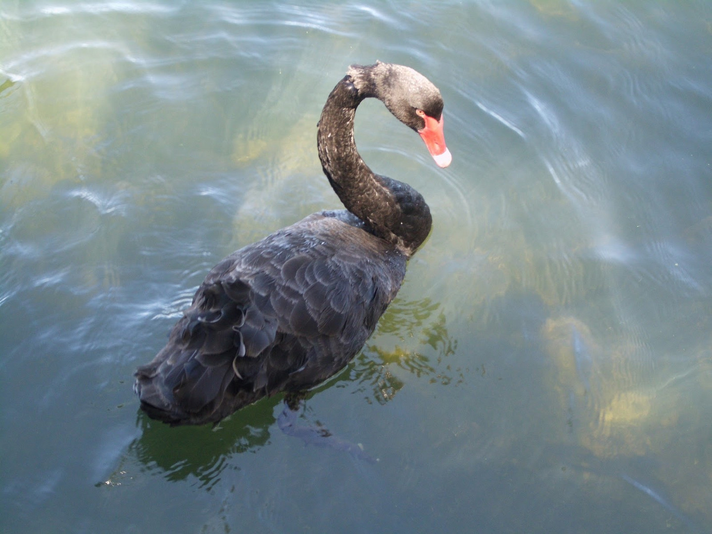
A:
POLYGON ((142 409, 171 424, 201 424, 262 397, 266 370, 256 356, 274 342, 276 325, 245 283, 204 284, 167 345, 135 372, 142 409))

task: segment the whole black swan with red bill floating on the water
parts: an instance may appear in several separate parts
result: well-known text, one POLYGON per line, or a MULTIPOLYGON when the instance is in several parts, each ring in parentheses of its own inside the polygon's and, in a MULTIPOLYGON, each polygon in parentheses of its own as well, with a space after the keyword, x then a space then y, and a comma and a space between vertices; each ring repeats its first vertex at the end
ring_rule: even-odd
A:
POLYGON ((408 184, 374 174, 353 124, 375 97, 417 131, 436 164, 451 155, 439 90, 409 67, 351 66, 318 123, 319 158, 346 207, 312 214, 221 261, 198 288, 167 345, 135 372, 150 417, 218 422, 277 392, 298 394, 363 347, 430 232, 430 209, 408 184))

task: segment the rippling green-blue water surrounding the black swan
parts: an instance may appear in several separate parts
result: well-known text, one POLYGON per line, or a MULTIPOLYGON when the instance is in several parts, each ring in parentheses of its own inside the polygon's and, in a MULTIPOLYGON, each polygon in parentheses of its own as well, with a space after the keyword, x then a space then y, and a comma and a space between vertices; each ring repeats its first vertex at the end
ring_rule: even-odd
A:
POLYGON ((712 4, 0 3, 0 531, 712 530, 712 4), (338 207, 350 63, 441 90, 454 162, 377 102, 362 156, 434 230, 301 414, 138 410, 221 258, 338 207))

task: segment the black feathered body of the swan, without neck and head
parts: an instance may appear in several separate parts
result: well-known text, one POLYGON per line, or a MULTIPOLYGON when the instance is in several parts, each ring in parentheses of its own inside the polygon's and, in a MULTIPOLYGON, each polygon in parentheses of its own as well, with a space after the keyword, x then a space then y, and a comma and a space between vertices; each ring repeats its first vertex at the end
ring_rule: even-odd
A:
POLYGON ((318 384, 360 350, 404 271, 385 241, 323 214, 236 251, 137 370, 142 407, 173 424, 218 421, 318 384))

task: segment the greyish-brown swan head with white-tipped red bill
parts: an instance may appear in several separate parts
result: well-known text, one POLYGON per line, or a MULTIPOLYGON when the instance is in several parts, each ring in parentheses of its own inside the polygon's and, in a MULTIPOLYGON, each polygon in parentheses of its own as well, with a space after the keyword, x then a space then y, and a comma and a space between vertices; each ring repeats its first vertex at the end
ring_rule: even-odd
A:
POLYGON ((443 99, 428 78, 410 67, 380 61, 352 65, 347 74, 362 98, 378 98, 399 121, 418 132, 439 167, 451 163, 443 130, 443 99))

